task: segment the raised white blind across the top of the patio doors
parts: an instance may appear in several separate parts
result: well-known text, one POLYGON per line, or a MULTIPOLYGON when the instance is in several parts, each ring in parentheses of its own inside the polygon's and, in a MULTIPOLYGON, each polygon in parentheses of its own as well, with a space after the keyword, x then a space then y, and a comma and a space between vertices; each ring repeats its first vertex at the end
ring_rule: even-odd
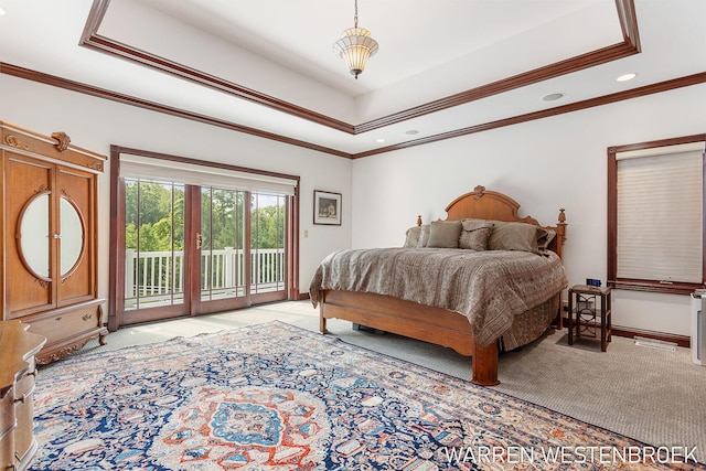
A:
POLYGON ((293 195, 297 178, 250 173, 218 167, 197 165, 128 153, 120 154, 120 175, 141 180, 170 181, 224 190, 293 195))

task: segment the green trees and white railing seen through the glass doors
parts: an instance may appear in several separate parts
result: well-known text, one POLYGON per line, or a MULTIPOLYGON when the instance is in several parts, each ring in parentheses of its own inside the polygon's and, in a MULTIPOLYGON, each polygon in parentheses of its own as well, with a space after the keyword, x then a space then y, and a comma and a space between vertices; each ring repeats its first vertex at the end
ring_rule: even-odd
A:
MULTIPOLYGON (((125 199, 126 249, 146 254, 133 259, 133 265, 127 269, 135 280, 130 283, 133 293, 129 298, 159 298, 169 292, 180 292, 184 269, 185 186, 128 180, 125 199)), ((243 258, 247 211, 250 212, 253 254, 250 282, 281 281, 285 203, 286 196, 208 188, 201 190, 202 289, 242 286, 243 264, 247 263, 243 258), (276 256, 256 256, 260 254, 258 249, 272 248, 278 249, 276 256)))

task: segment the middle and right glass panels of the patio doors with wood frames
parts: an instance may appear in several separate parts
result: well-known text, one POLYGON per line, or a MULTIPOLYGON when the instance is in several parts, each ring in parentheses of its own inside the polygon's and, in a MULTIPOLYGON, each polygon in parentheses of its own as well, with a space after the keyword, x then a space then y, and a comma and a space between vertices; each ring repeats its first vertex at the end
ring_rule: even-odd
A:
MULTIPOLYGON (((201 188, 197 313, 287 299, 287 196, 201 188)), ((197 216, 196 216, 197 217, 197 216)), ((194 226, 199 224, 194 221, 194 226)), ((195 265, 195 264, 194 264, 195 265)))

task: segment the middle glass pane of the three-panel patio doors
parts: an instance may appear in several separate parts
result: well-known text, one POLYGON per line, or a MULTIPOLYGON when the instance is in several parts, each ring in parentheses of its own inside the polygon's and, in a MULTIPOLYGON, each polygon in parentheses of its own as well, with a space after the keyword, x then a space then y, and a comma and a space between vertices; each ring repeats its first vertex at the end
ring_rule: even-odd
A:
POLYGON ((201 189, 201 301, 247 295, 247 193, 201 189))

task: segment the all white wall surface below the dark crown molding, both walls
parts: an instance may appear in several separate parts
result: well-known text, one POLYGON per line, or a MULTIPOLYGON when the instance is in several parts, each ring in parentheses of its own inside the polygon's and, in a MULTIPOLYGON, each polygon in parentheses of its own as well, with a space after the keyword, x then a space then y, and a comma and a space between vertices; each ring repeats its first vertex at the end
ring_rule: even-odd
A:
MULTIPOLYGON (((399 246, 421 214, 446 217, 482 184, 545 224, 566 208, 569 283, 606 279, 606 148, 706 132, 698 85, 355 161, 0 75, 0 119, 109 153, 110 144, 301 176, 300 290, 347 247, 399 246), (342 226, 312 224, 313 190, 342 193, 342 226), (306 237, 304 235, 308 235, 306 237)), ((99 296, 108 292, 109 168, 99 178, 99 296)), ((686 296, 614 293, 614 323, 687 335, 686 296)))

